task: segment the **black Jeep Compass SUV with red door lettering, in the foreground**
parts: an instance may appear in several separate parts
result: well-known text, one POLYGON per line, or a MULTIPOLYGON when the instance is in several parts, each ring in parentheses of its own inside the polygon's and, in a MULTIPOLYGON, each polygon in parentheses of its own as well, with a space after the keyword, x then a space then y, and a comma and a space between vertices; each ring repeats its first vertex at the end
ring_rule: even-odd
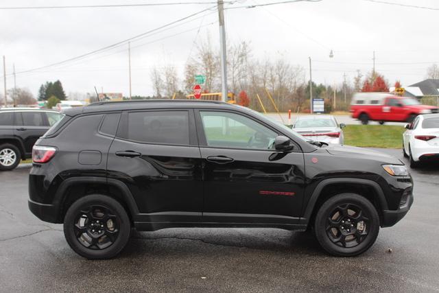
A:
POLYGON ((98 102, 34 146, 29 209, 64 223, 76 253, 114 257, 132 227, 313 229, 338 256, 366 251, 413 202, 392 156, 309 141, 222 102, 98 102))

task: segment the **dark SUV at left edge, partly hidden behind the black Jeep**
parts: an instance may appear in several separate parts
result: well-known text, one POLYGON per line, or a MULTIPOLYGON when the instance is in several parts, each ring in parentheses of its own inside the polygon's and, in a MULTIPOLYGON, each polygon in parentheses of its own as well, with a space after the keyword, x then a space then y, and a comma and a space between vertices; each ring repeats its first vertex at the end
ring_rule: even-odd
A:
POLYGON ((62 118, 62 114, 35 108, 0 109, 0 171, 12 170, 29 159, 37 139, 62 118))

